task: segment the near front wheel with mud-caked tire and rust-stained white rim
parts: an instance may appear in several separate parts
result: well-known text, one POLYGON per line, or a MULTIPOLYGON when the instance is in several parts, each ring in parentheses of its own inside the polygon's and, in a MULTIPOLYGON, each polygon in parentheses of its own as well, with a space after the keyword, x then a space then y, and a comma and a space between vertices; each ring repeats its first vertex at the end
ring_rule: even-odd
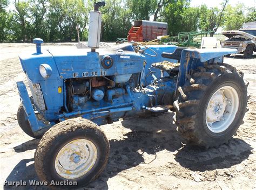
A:
POLYGON ((52 126, 42 137, 35 152, 35 169, 39 179, 48 184, 70 181, 71 186, 63 188, 80 187, 103 171, 109 151, 109 142, 95 123, 68 119, 52 126))

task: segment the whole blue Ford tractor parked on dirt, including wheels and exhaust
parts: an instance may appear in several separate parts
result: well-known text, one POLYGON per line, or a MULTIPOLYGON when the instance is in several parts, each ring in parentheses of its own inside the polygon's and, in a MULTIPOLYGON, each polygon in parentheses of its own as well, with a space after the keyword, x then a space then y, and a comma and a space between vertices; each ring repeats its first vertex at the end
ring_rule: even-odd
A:
POLYGON ((35 152, 39 179, 78 186, 96 179, 110 152, 98 125, 119 118, 171 110, 188 141, 203 147, 227 143, 247 111, 248 83, 223 63, 236 50, 138 43, 98 49, 102 5, 95 3, 90 12, 87 51, 41 50, 37 38, 36 52, 19 57, 32 96, 17 82, 18 123, 29 136, 42 137, 35 152))

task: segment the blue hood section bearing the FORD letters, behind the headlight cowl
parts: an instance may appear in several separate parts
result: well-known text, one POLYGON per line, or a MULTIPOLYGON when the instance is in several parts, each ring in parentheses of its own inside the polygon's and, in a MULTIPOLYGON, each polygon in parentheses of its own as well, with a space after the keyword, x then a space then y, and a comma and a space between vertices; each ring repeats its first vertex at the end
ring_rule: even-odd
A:
POLYGON ((50 51, 63 79, 116 75, 117 59, 115 51, 110 51, 109 54, 86 51, 88 50, 77 50, 76 52, 50 51), (103 68, 101 64, 104 55, 109 55, 113 59, 113 66, 109 69, 103 68))

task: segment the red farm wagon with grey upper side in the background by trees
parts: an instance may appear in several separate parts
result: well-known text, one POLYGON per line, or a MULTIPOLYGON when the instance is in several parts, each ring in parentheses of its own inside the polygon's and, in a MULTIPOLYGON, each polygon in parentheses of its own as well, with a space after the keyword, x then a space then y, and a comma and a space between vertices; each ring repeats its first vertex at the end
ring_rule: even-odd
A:
POLYGON ((136 20, 128 32, 128 41, 151 41, 167 35, 167 23, 136 20))

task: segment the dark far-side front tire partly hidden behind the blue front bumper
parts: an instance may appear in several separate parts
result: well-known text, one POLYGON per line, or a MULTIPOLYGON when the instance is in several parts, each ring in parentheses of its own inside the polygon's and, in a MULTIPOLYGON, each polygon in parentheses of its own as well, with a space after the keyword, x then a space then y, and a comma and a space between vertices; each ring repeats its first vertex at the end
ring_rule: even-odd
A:
POLYGON ((33 137, 33 138, 41 138, 42 137, 42 135, 34 135, 34 133, 32 132, 30 123, 27 119, 26 112, 25 112, 22 104, 19 105, 19 108, 18 108, 17 120, 18 120, 19 126, 26 133, 26 135, 29 135, 30 137, 33 137))

